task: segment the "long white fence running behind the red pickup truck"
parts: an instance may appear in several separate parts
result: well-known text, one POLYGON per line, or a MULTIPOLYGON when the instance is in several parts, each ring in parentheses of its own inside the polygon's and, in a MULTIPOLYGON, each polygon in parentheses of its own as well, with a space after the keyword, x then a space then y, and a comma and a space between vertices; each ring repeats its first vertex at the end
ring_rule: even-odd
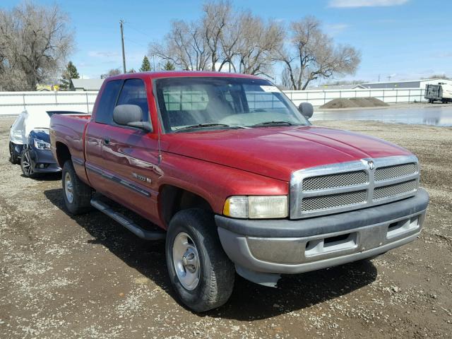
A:
MULTIPOLYGON (((295 103, 310 102, 319 107, 336 98, 376 97, 388 103, 426 101, 424 89, 369 89, 369 90, 286 90, 285 94, 295 103)), ((89 113, 97 92, 0 92, 0 116, 17 115, 28 109, 67 110, 89 113)))

